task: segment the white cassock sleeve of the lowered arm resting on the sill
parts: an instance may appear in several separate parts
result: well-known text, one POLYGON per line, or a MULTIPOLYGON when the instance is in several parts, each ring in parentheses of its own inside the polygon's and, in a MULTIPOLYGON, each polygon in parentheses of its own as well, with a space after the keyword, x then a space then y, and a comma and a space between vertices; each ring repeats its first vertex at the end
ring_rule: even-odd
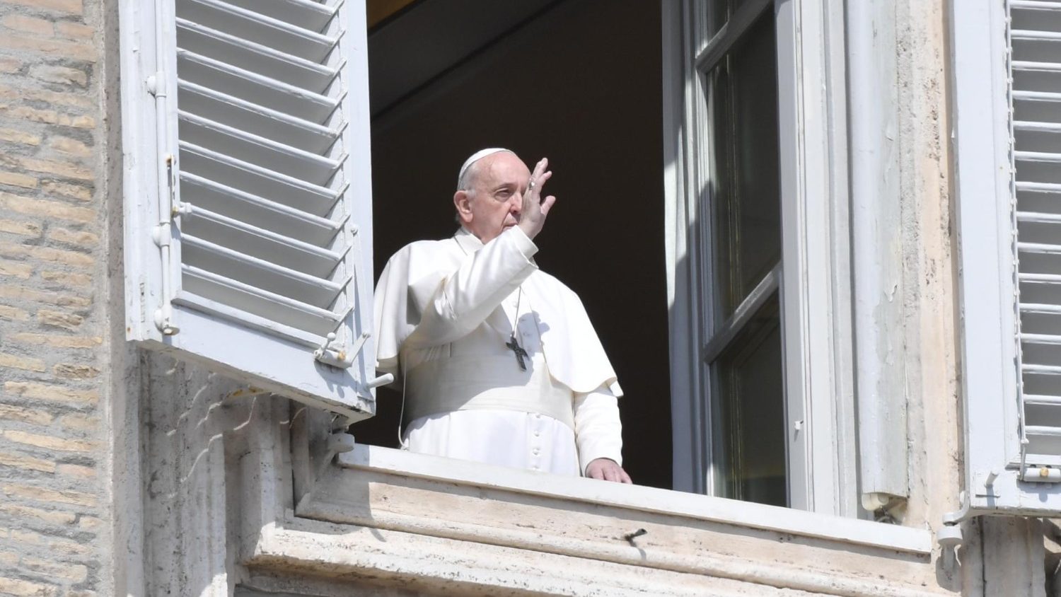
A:
POLYGON ((619 420, 619 399, 601 386, 588 393, 576 393, 575 444, 578 466, 586 467, 597 458, 610 458, 623 466, 623 425, 619 420))

